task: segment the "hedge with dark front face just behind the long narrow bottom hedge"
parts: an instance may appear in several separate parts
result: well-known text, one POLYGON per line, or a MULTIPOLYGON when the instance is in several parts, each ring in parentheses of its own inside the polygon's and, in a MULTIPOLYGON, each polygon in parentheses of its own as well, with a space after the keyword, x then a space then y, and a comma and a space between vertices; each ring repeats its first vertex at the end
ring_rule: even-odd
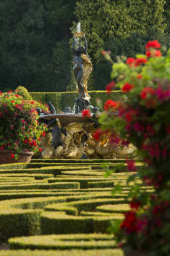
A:
POLYGON ((107 233, 107 228, 122 216, 71 216, 43 212, 41 214, 41 234, 107 233))

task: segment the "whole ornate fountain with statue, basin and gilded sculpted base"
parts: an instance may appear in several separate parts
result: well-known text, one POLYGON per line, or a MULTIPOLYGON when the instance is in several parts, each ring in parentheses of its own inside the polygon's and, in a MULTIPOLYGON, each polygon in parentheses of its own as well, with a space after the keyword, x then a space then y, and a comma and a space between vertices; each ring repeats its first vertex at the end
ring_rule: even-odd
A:
MULTIPOLYGON (((87 91, 87 82, 92 71, 92 63, 87 53, 87 40, 81 32, 80 23, 74 34, 73 72, 77 82, 79 97, 75 99, 73 111, 70 107, 65 108, 65 113, 56 113, 51 102, 48 103, 51 115, 44 115, 41 110, 39 121, 46 123, 48 131, 41 138, 43 158, 81 158, 83 153, 89 158, 122 158, 133 152, 133 149, 118 145, 111 145, 109 139, 102 137, 101 141, 94 141, 93 132, 98 126, 99 108, 90 105, 90 96, 87 91), (85 46, 79 44, 79 39, 84 38, 85 46), (76 49, 77 48, 77 49, 76 49), (82 117, 84 109, 92 109, 91 117, 82 117)), ((109 113, 111 114, 111 113, 109 113)))

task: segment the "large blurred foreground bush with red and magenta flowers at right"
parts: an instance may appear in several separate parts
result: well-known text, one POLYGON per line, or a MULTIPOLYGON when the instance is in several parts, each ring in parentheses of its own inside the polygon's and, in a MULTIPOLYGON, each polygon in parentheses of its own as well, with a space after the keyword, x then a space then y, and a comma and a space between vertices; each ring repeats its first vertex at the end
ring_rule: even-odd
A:
MULTIPOLYGON (((121 138, 117 143, 133 143, 145 163, 138 167, 127 159, 126 169, 134 172, 127 185, 138 177, 154 193, 143 192, 138 184, 131 186, 131 210, 110 229, 118 242, 149 250, 151 256, 165 256, 170 253, 170 50, 162 56, 156 40, 145 48, 145 55, 113 64, 112 84, 120 88, 126 101, 117 103, 117 115, 103 115, 100 123, 103 132, 110 130, 112 136, 121 138)), ((107 113, 115 111, 113 99, 109 101, 107 113)))

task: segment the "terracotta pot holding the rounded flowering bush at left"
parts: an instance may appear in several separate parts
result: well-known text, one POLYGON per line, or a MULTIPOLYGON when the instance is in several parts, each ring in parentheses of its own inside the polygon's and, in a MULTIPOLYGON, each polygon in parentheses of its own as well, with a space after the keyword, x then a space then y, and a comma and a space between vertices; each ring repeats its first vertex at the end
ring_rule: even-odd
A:
POLYGON ((29 163, 33 156, 33 151, 21 151, 18 159, 11 157, 15 153, 12 150, 0 150, 0 164, 13 164, 13 163, 29 163))

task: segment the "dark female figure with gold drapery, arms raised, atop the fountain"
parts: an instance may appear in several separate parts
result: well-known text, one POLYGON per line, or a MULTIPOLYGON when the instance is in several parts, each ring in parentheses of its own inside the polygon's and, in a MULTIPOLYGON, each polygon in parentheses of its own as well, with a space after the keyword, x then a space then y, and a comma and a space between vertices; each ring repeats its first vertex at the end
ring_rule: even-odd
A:
MULTIPOLYGON (((85 38, 85 34, 83 35, 85 38)), ((75 55, 74 60, 74 75, 77 82, 79 90, 79 98, 87 102, 87 105, 90 101, 89 93, 87 92, 87 81, 89 80, 89 75, 92 71, 92 63, 87 54, 87 40, 85 38, 85 47, 79 45, 78 40, 74 38, 73 42, 73 54, 75 55), (78 46, 75 50, 75 45, 78 46)))

